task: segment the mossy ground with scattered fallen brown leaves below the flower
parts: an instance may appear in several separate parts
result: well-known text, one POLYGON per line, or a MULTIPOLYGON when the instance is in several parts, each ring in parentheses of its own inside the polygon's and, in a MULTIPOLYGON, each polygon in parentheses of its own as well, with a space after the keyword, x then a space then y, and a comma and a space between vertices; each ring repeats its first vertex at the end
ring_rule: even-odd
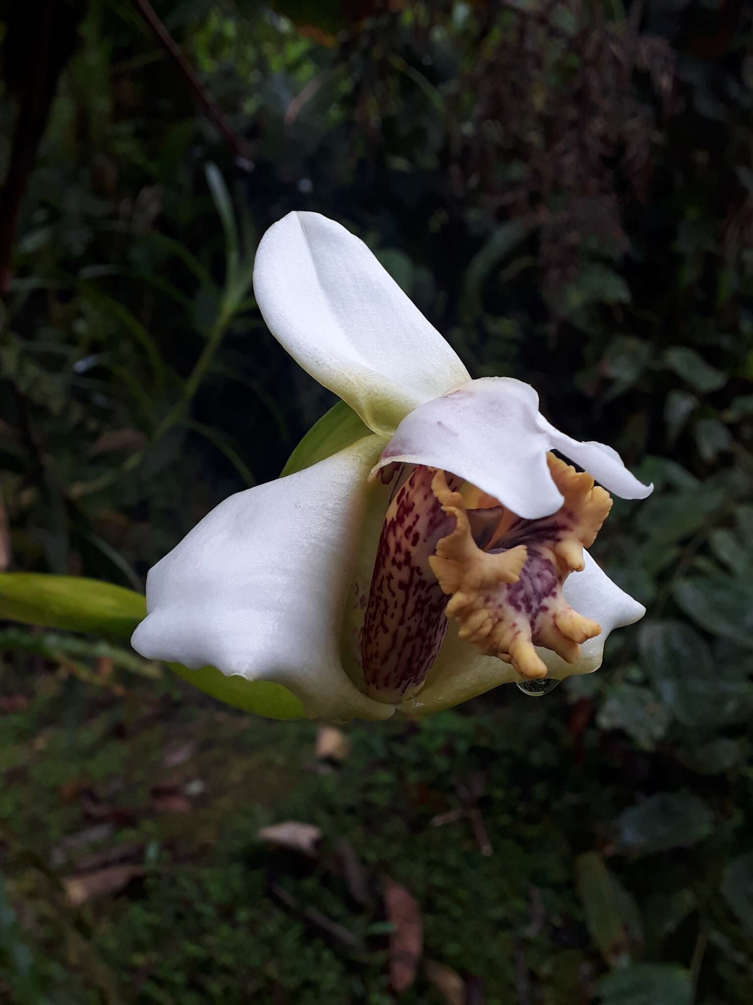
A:
MULTIPOLYGON (((172 677, 124 697, 36 680, 3 718, 0 998, 390 1002, 388 877, 424 925, 401 1002, 453 1001, 437 963, 462 978, 460 1002, 577 1005, 595 993, 605 965, 575 863, 593 849, 608 860, 611 821, 648 762, 589 728, 587 701, 568 705, 565 688, 344 727, 337 765, 316 759, 314 724, 249 719, 172 677), (258 837, 286 820, 321 829, 314 856, 258 837)), ((667 869, 683 887, 693 855, 633 870, 622 859, 621 877, 641 898, 667 869)), ((683 917, 681 958, 696 941, 683 917)), ((644 957, 661 958, 659 941, 642 940, 644 957)), ((744 966, 728 969, 742 996, 744 966)))

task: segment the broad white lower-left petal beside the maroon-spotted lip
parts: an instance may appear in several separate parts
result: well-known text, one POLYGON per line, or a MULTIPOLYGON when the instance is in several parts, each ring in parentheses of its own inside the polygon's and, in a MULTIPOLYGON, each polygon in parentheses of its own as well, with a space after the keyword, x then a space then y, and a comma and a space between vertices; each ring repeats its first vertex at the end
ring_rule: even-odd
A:
POLYGON ((282 684, 310 717, 388 719, 350 682, 339 632, 384 440, 366 436, 221 502, 159 562, 133 645, 152 659, 282 684))

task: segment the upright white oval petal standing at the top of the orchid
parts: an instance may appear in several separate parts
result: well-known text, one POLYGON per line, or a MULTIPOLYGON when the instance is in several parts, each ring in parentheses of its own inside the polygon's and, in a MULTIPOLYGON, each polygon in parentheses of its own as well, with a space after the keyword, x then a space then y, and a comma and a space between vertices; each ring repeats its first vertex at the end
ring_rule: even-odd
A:
POLYGON ((288 213, 256 252, 254 293, 303 369, 390 435, 412 409, 469 379, 366 245, 318 213, 288 213))

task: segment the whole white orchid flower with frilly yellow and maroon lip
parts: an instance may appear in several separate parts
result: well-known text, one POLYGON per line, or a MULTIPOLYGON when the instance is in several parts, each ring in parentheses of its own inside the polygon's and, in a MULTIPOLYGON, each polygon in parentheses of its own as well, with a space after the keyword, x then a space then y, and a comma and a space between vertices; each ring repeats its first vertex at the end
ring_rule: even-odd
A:
POLYGON ((267 231, 254 290, 275 338, 345 404, 292 473, 225 499, 151 570, 134 647, 280 718, 425 715, 596 669, 609 632, 645 609, 584 548, 605 489, 652 486, 555 429, 529 385, 471 380, 326 217, 267 231))

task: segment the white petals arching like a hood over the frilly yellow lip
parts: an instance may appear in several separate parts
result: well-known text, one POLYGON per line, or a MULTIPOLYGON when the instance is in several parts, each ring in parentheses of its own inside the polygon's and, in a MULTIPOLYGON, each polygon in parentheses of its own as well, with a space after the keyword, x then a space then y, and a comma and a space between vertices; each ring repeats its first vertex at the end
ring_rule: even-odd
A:
POLYGON ((580 443, 555 429, 539 412, 533 388, 511 377, 470 381, 411 412, 374 471, 393 462, 444 468, 519 517, 535 520, 555 513, 563 501, 546 464, 553 447, 616 495, 645 498, 652 490, 631 474, 615 450, 580 443))

